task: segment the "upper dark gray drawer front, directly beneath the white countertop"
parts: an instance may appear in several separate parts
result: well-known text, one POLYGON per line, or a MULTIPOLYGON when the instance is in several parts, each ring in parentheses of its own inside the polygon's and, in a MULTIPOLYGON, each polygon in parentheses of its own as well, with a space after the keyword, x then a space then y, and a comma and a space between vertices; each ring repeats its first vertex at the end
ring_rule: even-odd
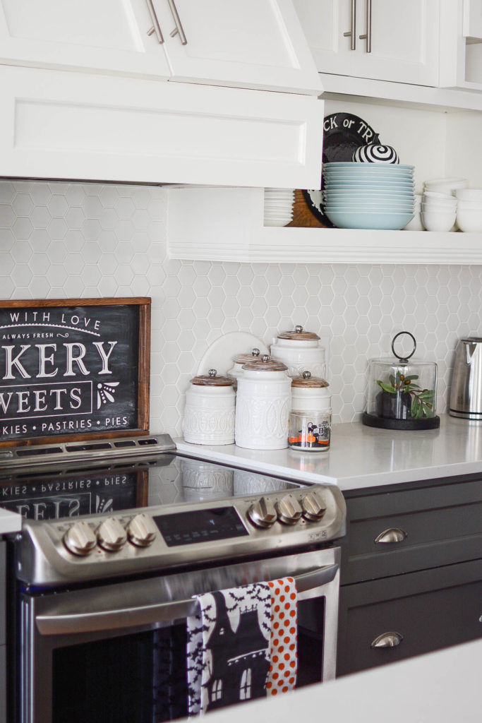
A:
POLYGON ((342 584, 481 557, 482 481, 348 499, 342 584))

